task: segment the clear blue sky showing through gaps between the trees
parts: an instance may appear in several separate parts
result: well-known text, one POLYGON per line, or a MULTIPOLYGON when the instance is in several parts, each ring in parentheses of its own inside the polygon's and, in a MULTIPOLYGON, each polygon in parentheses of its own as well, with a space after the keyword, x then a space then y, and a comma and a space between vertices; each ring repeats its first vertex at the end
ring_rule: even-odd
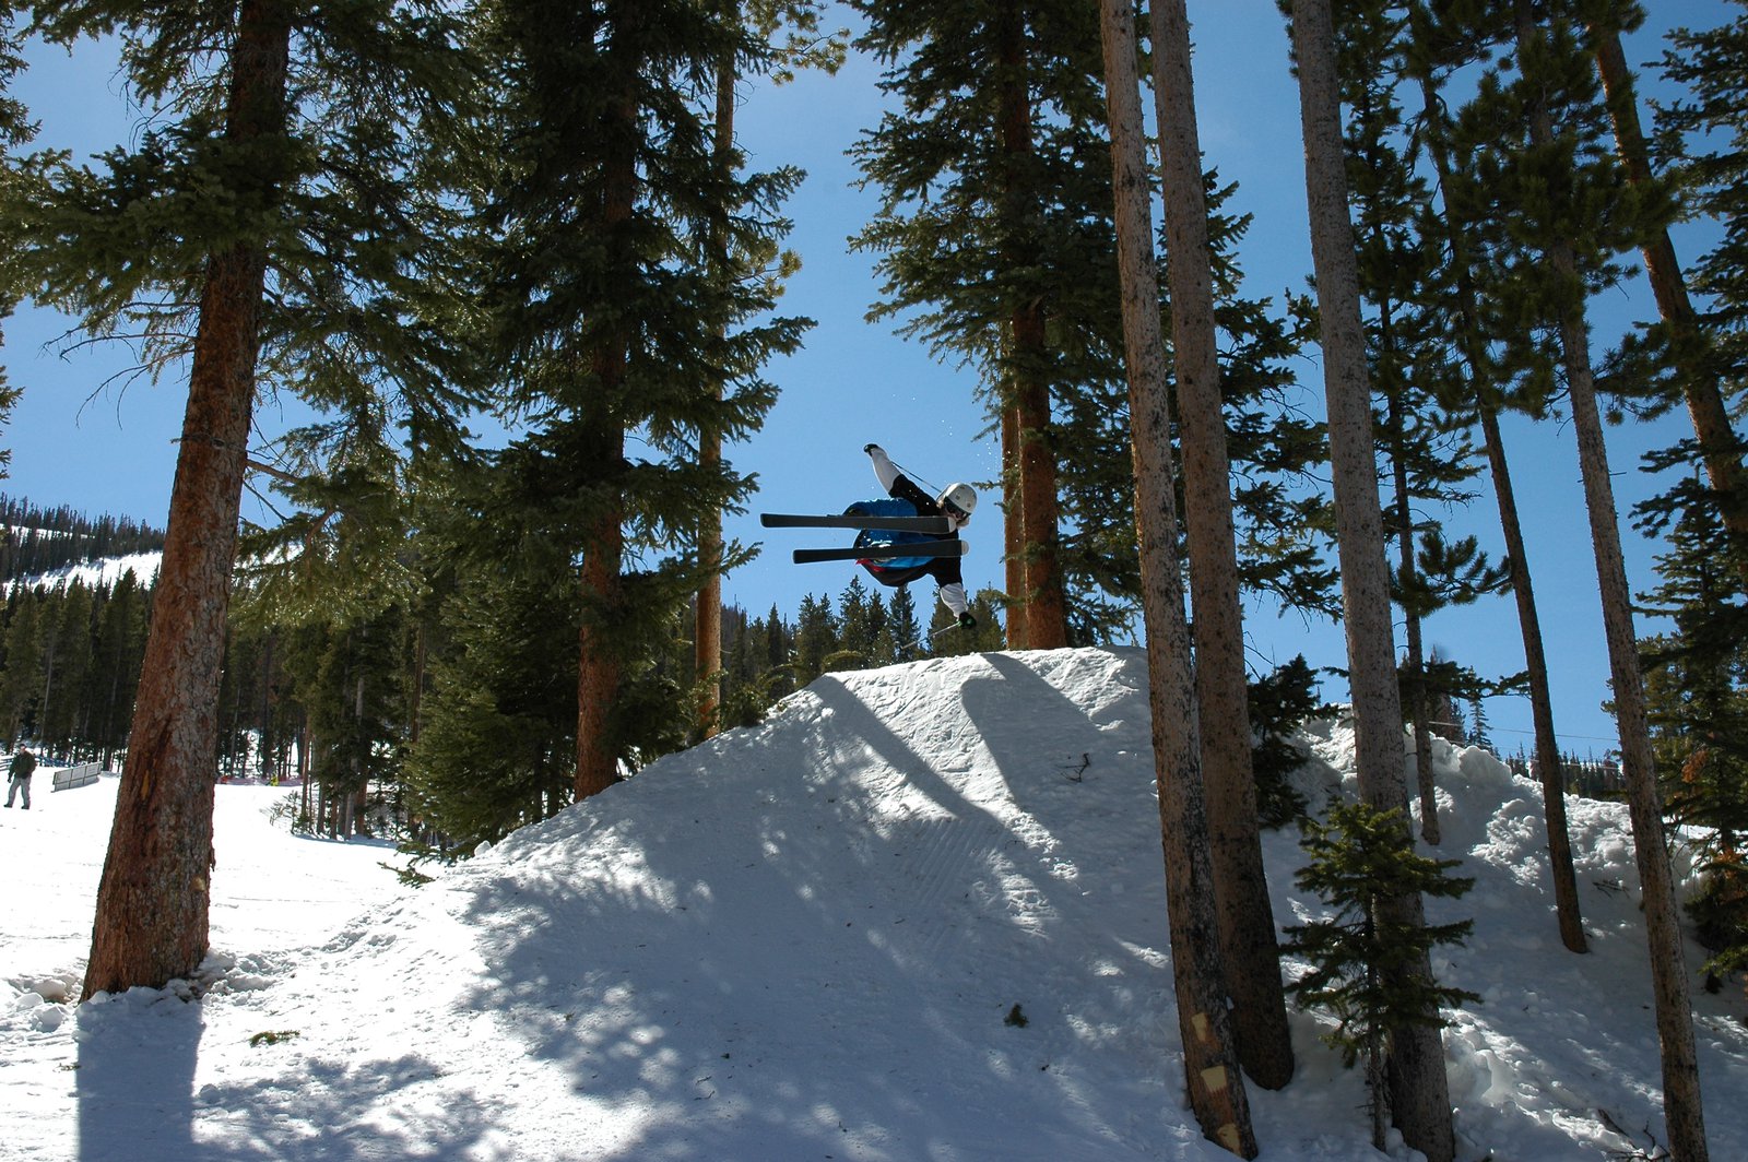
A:
MULTIPOLYGON (((1627 42, 1627 59, 1634 65, 1661 54, 1666 28, 1710 28, 1738 12, 1727 0, 1648 0, 1647 7, 1647 28, 1627 42)), ((1278 301, 1283 288, 1304 287, 1311 266, 1297 87, 1288 73, 1285 24, 1273 0, 1192 0, 1190 19, 1206 163, 1239 183, 1232 208, 1255 215, 1243 248, 1248 294, 1278 301)), ((851 500, 876 495, 860 451, 869 440, 937 486, 989 481, 998 470, 996 442, 986 433, 988 421, 974 398, 975 374, 933 362, 918 342, 893 334, 890 323, 865 322, 879 288, 871 257, 850 253, 844 239, 869 218, 876 196, 853 189, 857 171, 844 150, 877 122, 876 80, 877 66, 853 58, 836 77, 804 75, 785 87, 748 93, 738 114, 752 164, 808 169, 806 183, 788 204, 795 220, 788 245, 804 266, 781 309, 818 322, 806 349, 771 367, 783 395, 764 430, 729 449, 738 467, 759 474, 760 493, 752 512, 837 512, 851 500)), ((1654 80, 1654 73, 1645 73, 1647 84, 1654 80)), ((80 154, 126 140, 135 121, 121 98, 114 63, 101 52, 72 59, 61 51, 33 52, 16 94, 44 121, 40 143, 80 154)), ((1678 234, 1683 259, 1697 255, 1701 238, 1692 231, 1678 234)), ((1599 356, 1633 320, 1652 315, 1641 283, 1603 297, 1592 313, 1594 353, 1599 356)), ((110 377, 128 365, 126 355, 114 344, 61 353, 56 339, 65 329, 63 320, 31 309, 7 320, 0 356, 12 383, 26 391, 0 433, 0 442, 12 449, 10 479, 0 481, 0 491, 163 524, 185 384, 170 376, 122 390, 110 377)), ((1321 367, 1306 358, 1299 370, 1306 405, 1320 409, 1321 367)), ((266 400, 257 407, 264 433, 283 423, 280 404, 266 400)), ((1657 491, 1636 472, 1640 456, 1678 439, 1683 425, 1676 414, 1648 430, 1610 430, 1622 512, 1657 491)), ((1575 439, 1570 425, 1512 425, 1507 444, 1556 671, 1556 725, 1566 750, 1599 755, 1613 744, 1615 729, 1601 711, 1608 661, 1575 439)), ((986 501, 993 503, 993 496, 986 495, 986 501)), ((967 529, 972 552, 965 578, 972 589, 1002 584, 1000 521, 993 517, 996 510, 988 507, 967 529)), ((1498 554, 1491 495, 1451 519, 1479 533, 1498 554)), ((1647 589, 1654 584, 1655 549, 1638 542, 1626 522, 1622 531, 1629 542, 1629 580, 1634 589, 1647 589)), ((792 615, 804 594, 836 596, 850 582, 853 571, 844 564, 790 564, 788 549, 809 543, 808 536, 773 533, 760 529, 752 514, 731 519, 731 536, 764 542, 766 552, 727 578, 724 599, 755 615, 771 605, 792 615)), ((918 598, 926 601, 928 594, 918 598)), ((1252 667, 1267 667, 1297 652, 1314 666, 1344 664, 1341 634, 1330 626, 1253 610, 1248 633, 1252 667)), ((1509 598, 1440 613, 1428 624, 1426 641, 1482 673, 1523 667, 1509 598)), ((1341 697, 1341 683, 1327 683, 1325 695, 1341 697)), ((1528 744, 1526 699, 1491 699, 1486 709, 1502 750, 1528 744)))

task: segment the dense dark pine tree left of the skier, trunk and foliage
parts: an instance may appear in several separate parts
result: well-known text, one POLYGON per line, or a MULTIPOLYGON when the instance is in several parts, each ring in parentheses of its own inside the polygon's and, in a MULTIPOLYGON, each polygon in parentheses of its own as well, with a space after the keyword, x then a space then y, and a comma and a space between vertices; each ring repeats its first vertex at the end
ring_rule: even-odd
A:
POLYGON ((689 543, 703 514, 752 489, 727 463, 703 463, 690 439, 757 430, 774 398, 760 367, 797 346, 804 322, 767 316, 774 280, 725 280, 708 255, 767 253, 799 175, 736 176, 713 149, 703 107, 717 65, 771 63, 720 7, 503 0, 482 51, 502 63, 498 107, 470 142, 488 199, 477 222, 486 363, 528 425, 496 470, 505 515, 579 561, 582 799, 629 758, 631 669, 661 648, 706 573, 746 557, 731 545, 703 561, 689 543), (724 224, 731 236, 708 241, 724 224), (755 316, 766 318, 748 325, 755 316), (643 440, 638 463, 631 433, 643 440))

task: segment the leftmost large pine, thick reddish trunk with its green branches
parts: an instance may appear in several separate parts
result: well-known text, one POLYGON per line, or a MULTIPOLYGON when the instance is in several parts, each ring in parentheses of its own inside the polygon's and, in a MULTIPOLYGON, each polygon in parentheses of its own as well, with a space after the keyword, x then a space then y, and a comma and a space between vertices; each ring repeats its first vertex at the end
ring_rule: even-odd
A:
POLYGON ((406 171, 392 150, 421 138, 414 110, 453 61, 446 10, 297 0, 31 9, 49 42, 121 37, 133 96, 173 110, 131 150, 108 154, 107 173, 58 166, 21 248, 37 297, 94 335, 143 332, 154 365, 192 353, 87 996, 161 986, 206 952, 212 704, 257 379, 297 383, 327 342, 362 363, 360 351, 381 349, 372 341, 406 339, 392 313, 351 309, 351 295, 392 281, 416 238, 397 213, 406 171), (334 306, 334 287, 346 288, 339 318, 320 309, 334 306), (381 327, 348 334, 348 322, 381 327))

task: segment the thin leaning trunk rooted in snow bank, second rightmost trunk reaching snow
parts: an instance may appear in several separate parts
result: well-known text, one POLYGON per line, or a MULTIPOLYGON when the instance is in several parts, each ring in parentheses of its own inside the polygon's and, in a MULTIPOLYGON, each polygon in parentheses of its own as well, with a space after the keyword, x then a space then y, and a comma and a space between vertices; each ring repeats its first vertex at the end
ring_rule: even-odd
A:
MULTIPOLYGON (((1416 19, 1425 9, 1416 5, 1416 19)), ((1451 204, 1451 154, 1444 138, 1444 114, 1439 91, 1430 73, 1421 73, 1421 107, 1430 131, 1425 135, 1433 175, 1446 190, 1446 238, 1451 248, 1451 267, 1456 281, 1458 348, 1468 367, 1475 395, 1475 419, 1481 425, 1481 442, 1488 453, 1488 472, 1493 479, 1493 496, 1500 508, 1500 531, 1505 536, 1505 561, 1512 577, 1512 599, 1517 603, 1517 629, 1524 643, 1524 673, 1530 678, 1530 722, 1535 729, 1535 767, 1542 783, 1542 818, 1547 825, 1549 879, 1554 884, 1554 912, 1559 921, 1559 940, 1571 952, 1585 952, 1584 917, 1578 912, 1578 882, 1571 867, 1571 833, 1566 827, 1566 781, 1559 762, 1559 739, 1554 734, 1554 699, 1547 673, 1547 650, 1542 647, 1542 617, 1536 612, 1535 585, 1530 578, 1530 554, 1524 549, 1523 522, 1517 519, 1517 495, 1512 488, 1510 461, 1505 458, 1505 440, 1500 433, 1498 405, 1489 398, 1488 360, 1482 351, 1481 306, 1474 285, 1474 267, 1468 260, 1467 222, 1460 206, 1451 204)))

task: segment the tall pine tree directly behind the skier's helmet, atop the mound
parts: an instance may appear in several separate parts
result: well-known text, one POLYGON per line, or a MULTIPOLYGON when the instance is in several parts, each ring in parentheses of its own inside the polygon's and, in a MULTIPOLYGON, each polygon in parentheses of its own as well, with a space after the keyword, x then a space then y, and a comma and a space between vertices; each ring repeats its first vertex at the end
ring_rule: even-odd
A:
POLYGON ((1068 643, 1059 474, 1077 460, 1056 409, 1117 379, 1108 360, 1110 194, 1099 156, 1098 30, 1063 0, 855 0, 858 40, 902 107, 851 150, 881 187, 855 245, 876 250, 877 316, 909 316, 968 360, 1000 418, 1010 645, 1068 643))

